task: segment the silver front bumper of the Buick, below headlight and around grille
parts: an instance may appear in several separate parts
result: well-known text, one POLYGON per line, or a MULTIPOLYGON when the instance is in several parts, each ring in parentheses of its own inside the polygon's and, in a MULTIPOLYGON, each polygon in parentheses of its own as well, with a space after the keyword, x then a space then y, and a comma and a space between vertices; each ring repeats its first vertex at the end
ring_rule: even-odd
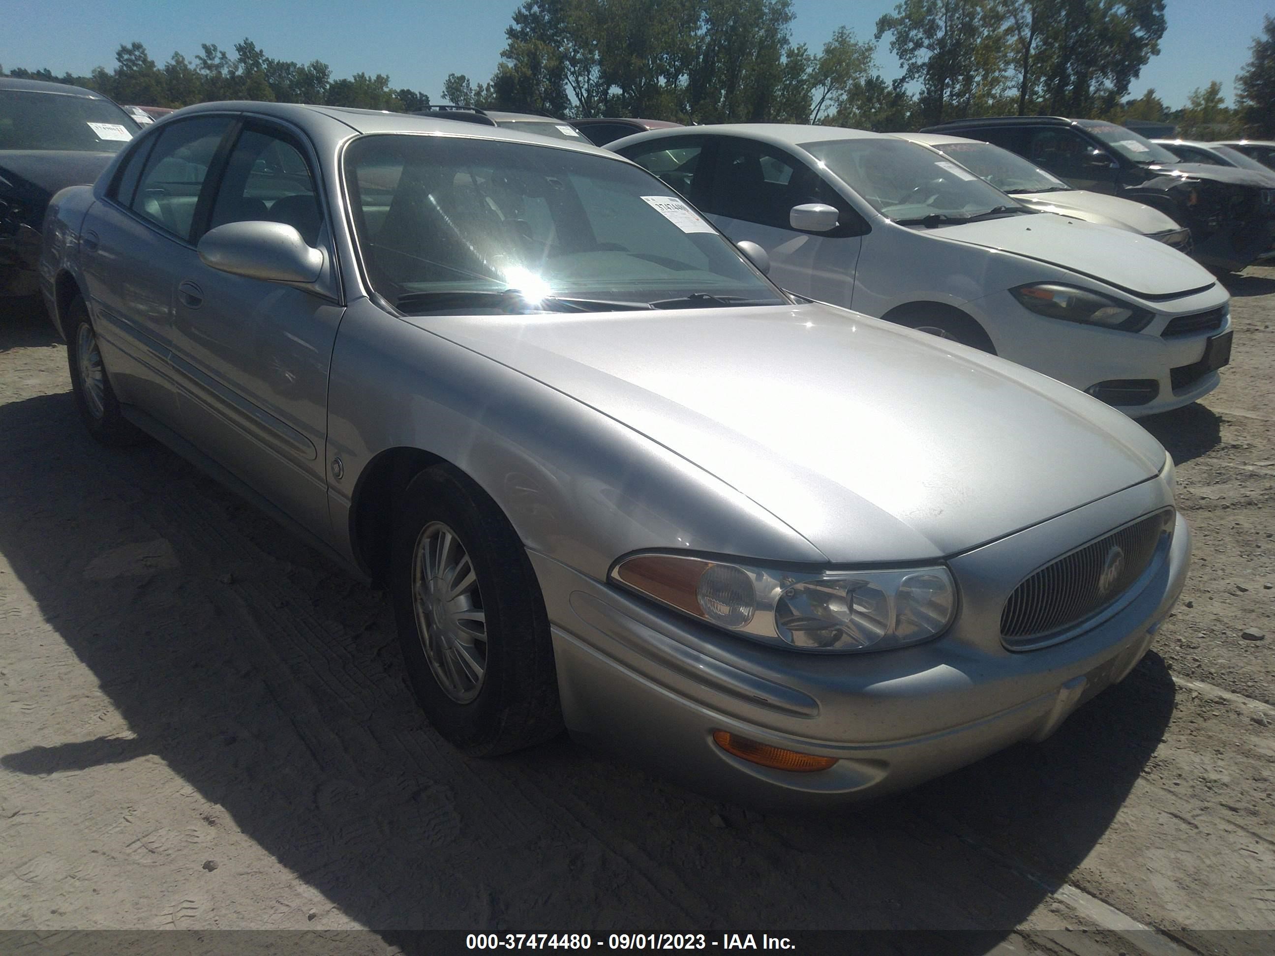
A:
POLYGON ((875 798, 1044 739, 1146 653, 1184 584, 1190 532, 1179 516, 1137 597, 1061 644, 1007 650, 1005 595, 1023 569, 1164 503, 1163 486, 1146 482, 952 558, 961 609, 951 630, 862 655, 754 644, 532 554, 567 728, 694 789, 783 806, 875 798), (770 770, 719 748, 714 730, 838 764, 770 770))

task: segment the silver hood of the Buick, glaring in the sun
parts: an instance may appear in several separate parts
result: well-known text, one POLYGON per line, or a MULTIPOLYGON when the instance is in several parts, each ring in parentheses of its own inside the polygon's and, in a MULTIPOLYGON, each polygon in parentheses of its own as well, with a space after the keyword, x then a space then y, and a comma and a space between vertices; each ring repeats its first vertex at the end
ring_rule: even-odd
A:
POLYGON ((1080 391, 830 306, 408 321, 671 449, 835 562, 955 554, 1164 464, 1080 391))

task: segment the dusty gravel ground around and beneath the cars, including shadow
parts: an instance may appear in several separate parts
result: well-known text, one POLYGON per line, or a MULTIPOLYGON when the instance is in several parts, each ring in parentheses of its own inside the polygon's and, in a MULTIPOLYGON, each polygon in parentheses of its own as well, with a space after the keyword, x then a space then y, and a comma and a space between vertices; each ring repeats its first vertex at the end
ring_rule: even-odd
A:
POLYGON ((765 816, 567 739, 458 756, 405 687, 382 594, 164 449, 98 447, 42 312, 0 306, 0 929, 1275 950, 1275 269, 1229 286, 1221 387, 1145 422, 1196 549, 1133 674, 1043 744, 765 816))

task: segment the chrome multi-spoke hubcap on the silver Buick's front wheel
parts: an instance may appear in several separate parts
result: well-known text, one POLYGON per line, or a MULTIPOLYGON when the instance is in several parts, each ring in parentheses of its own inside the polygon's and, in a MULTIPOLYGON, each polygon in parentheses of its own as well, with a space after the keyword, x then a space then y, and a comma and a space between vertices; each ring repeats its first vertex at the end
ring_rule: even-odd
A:
POLYGON ((433 679, 451 700, 468 704, 487 672, 487 614, 469 553, 441 521, 427 524, 416 539, 412 604, 433 679))

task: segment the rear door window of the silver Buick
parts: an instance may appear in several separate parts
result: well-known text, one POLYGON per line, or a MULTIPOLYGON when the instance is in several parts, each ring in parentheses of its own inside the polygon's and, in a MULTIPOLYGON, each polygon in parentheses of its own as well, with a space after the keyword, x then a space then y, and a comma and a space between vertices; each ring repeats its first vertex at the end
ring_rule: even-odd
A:
POLYGON ((229 122, 226 116, 208 116, 168 126, 150 150, 130 208, 189 240, 208 167, 229 122))

